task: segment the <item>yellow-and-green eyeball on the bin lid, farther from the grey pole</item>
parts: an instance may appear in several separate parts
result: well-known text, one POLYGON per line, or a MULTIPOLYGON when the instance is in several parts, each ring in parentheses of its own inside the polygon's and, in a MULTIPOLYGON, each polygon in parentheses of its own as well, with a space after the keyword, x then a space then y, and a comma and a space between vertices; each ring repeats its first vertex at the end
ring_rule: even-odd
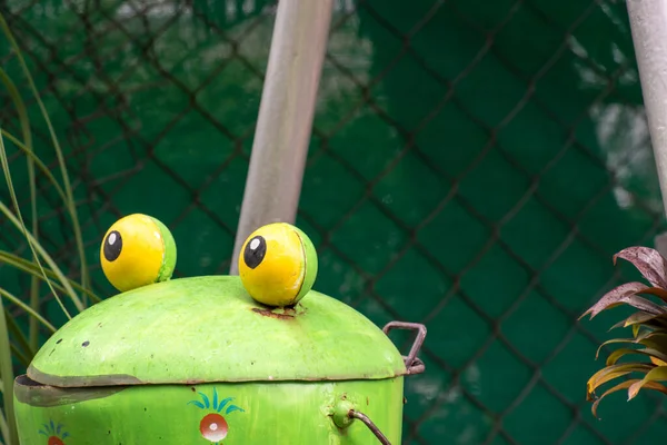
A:
POLYGON ((171 278, 176 267, 176 243, 156 218, 135 214, 107 230, 100 247, 107 279, 120 291, 171 278))

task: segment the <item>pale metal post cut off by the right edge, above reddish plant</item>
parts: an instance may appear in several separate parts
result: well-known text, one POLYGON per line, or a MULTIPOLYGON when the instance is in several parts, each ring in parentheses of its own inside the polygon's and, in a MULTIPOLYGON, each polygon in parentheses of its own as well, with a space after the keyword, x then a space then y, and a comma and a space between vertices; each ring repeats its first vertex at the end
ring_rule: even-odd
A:
POLYGON ((627 0, 639 81, 667 211, 667 2, 627 0))

